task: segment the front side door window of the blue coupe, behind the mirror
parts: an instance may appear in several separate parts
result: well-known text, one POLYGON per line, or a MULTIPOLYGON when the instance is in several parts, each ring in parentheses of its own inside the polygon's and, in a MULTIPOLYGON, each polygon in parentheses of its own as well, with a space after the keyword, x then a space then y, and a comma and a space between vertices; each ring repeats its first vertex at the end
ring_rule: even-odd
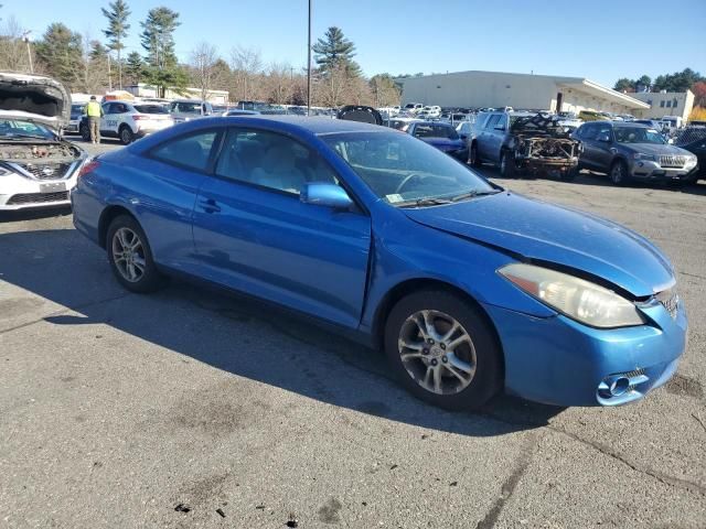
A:
POLYGON ((299 194, 307 182, 338 183, 323 159, 291 138, 261 130, 233 129, 225 140, 218 176, 299 194))

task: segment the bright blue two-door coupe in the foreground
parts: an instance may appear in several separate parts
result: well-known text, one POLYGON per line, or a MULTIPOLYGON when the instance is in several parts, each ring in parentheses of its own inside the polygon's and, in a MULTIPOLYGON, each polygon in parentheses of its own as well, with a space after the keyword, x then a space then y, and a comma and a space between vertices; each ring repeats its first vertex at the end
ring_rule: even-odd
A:
POLYGON ((650 241, 373 125, 194 120, 85 164, 72 203, 126 289, 186 276, 314 316, 449 409, 502 389, 634 401, 685 347, 674 270, 650 241))

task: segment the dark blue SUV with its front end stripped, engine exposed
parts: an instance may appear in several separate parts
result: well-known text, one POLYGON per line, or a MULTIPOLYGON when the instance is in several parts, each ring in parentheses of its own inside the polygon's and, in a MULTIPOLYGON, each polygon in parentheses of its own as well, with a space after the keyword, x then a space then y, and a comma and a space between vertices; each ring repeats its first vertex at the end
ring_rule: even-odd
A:
POLYGON ((468 162, 494 163, 504 177, 530 172, 574 180, 581 142, 560 120, 548 112, 483 112, 469 140, 468 162))

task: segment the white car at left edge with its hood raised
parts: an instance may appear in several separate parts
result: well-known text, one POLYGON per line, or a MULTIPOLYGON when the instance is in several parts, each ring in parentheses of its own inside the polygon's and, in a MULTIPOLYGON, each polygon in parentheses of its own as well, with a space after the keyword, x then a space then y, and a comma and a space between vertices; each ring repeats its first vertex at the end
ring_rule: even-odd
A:
POLYGON ((69 204, 86 159, 62 139, 71 97, 50 77, 0 73, 0 210, 69 204))

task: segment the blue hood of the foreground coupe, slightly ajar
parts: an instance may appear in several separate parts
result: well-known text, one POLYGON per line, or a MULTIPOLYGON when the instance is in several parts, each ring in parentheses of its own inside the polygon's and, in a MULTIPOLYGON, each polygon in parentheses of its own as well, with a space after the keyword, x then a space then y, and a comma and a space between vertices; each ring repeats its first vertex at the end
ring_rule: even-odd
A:
POLYGON ((584 271, 637 298, 674 282, 650 241, 618 224, 511 193, 403 209, 413 220, 538 262, 584 271))

